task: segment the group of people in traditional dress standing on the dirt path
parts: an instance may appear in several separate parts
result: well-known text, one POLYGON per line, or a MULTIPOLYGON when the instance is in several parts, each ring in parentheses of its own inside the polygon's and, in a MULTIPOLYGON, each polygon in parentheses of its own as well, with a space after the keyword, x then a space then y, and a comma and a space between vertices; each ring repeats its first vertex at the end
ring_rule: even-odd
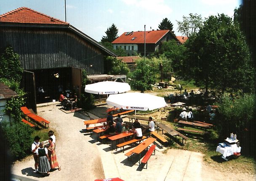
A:
POLYGON ((56 137, 53 131, 48 132, 48 144, 40 142, 40 137, 35 136, 31 151, 35 160, 35 173, 50 175, 49 171, 54 168, 61 170, 55 152, 56 137))

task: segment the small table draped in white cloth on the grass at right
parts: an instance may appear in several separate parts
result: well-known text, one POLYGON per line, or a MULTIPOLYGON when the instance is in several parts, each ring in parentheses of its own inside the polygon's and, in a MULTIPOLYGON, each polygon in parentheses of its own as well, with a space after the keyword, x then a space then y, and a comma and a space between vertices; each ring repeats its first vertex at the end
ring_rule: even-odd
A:
MULTIPOLYGON (((224 160, 228 160, 226 157, 234 155, 235 152, 241 152, 241 147, 237 147, 238 140, 227 138, 225 139, 225 147, 221 147, 221 145, 217 146, 216 152, 220 152, 222 154, 222 158, 224 160)), ((221 143, 222 144, 222 143, 221 143)))

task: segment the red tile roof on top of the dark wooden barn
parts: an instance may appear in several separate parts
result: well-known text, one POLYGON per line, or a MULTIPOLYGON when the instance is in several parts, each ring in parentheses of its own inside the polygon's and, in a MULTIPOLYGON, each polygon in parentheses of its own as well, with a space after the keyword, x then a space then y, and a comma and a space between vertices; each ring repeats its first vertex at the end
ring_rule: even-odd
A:
POLYGON ((0 22, 21 24, 69 24, 26 7, 21 7, 0 15, 0 22))

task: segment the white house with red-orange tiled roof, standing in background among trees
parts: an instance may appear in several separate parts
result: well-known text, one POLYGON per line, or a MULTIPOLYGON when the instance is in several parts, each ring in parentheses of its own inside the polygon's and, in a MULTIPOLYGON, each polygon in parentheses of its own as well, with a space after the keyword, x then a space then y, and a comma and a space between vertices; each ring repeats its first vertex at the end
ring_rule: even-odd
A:
POLYGON ((163 41, 171 39, 179 41, 169 30, 145 31, 145 34, 144 31, 131 31, 124 32, 112 42, 112 45, 115 50, 119 47, 125 50, 128 56, 144 55, 144 35, 146 37, 146 55, 155 52, 163 41))

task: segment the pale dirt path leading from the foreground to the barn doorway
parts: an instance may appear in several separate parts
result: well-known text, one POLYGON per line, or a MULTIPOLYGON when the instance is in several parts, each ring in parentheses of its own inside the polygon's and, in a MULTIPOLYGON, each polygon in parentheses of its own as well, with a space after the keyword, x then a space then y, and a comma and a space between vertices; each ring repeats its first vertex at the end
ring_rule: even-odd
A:
MULTIPOLYGON (((56 136, 56 155, 61 171, 53 171, 50 176, 41 178, 33 173, 34 160, 31 157, 18 161, 13 166, 13 174, 26 176, 40 181, 93 181, 103 178, 101 158, 96 144, 88 142, 89 136, 85 136, 82 129, 85 128, 81 113, 66 114, 56 105, 37 108, 38 114, 50 121, 50 127, 54 128, 56 136)), ((86 118, 87 120, 89 118, 86 118)))

